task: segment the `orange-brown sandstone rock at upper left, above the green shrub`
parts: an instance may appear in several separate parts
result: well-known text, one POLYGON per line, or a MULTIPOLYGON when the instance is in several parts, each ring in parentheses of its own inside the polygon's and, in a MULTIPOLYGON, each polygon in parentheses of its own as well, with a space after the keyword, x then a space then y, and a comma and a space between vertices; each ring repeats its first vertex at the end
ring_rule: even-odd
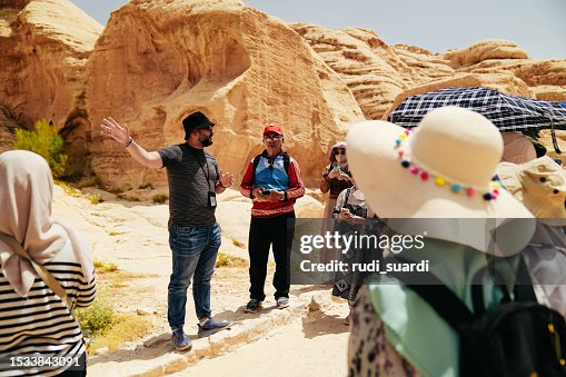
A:
MULTIPOLYGON (((0 9, 0 106, 3 119, 30 128, 52 120, 71 143, 81 166, 86 153, 85 63, 102 26, 68 0, 2 1, 0 9), (75 130, 73 130, 75 129, 75 130)), ((0 120, 0 148, 8 149, 13 127, 0 120), (10 131, 11 130, 11 131, 10 131)), ((13 125, 12 125, 13 126, 13 125)), ((1 151, 2 149, 0 149, 1 151)))

